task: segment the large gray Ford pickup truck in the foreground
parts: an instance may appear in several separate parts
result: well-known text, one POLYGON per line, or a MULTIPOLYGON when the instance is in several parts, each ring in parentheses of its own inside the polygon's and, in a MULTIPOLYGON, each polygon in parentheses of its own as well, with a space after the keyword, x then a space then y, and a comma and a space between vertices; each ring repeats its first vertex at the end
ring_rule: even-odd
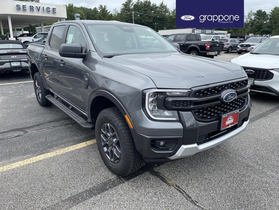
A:
POLYGON ((184 54, 141 25, 58 22, 27 57, 38 103, 95 129, 104 163, 119 176, 212 148, 249 122, 242 67, 184 54))

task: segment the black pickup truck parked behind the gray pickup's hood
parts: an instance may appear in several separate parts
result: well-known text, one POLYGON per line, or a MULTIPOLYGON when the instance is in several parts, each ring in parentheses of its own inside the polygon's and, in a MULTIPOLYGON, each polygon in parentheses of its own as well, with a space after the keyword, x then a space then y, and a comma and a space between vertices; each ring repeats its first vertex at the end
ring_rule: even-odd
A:
POLYGON ((178 43, 180 51, 204 57, 211 57, 224 53, 223 41, 201 41, 201 35, 195 33, 171 34, 166 37, 171 43, 178 43))

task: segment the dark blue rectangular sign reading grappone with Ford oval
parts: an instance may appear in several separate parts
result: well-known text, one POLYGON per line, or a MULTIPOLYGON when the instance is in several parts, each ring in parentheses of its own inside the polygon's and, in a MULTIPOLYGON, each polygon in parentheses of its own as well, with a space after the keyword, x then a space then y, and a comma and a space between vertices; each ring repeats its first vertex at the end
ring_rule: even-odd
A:
POLYGON ((176 0, 176 28, 244 28, 244 0, 176 0))

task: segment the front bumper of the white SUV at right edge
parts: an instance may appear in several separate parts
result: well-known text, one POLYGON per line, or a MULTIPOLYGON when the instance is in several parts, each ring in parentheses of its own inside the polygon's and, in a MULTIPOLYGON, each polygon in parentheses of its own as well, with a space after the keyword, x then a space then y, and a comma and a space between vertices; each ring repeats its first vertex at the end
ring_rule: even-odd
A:
POLYGON ((271 80, 266 81, 254 81, 254 85, 251 85, 250 90, 258 93, 266 93, 273 96, 279 96, 279 72, 270 70, 274 76, 271 80))

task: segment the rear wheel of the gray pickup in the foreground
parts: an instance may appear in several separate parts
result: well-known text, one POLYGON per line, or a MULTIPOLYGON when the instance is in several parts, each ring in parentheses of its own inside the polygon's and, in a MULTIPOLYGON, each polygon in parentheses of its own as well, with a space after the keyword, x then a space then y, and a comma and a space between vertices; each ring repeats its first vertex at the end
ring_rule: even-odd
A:
POLYGON ((34 74, 34 89, 38 103, 43 107, 48 107, 51 102, 46 99, 46 95, 49 94, 48 90, 43 85, 43 80, 39 72, 34 74))

